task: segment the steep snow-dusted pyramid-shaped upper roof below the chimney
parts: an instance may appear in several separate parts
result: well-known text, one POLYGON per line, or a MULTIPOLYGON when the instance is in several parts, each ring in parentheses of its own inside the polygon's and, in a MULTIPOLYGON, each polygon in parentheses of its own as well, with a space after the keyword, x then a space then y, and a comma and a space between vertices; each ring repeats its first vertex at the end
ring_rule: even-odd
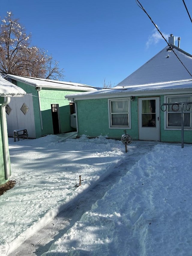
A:
MULTIPOLYGON (((192 56, 174 45, 172 47, 187 70, 192 74, 192 56)), ((143 66, 126 77, 117 87, 192 79, 173 51, 167 51, 168 49, 168 46, 165 47, 143 66)))

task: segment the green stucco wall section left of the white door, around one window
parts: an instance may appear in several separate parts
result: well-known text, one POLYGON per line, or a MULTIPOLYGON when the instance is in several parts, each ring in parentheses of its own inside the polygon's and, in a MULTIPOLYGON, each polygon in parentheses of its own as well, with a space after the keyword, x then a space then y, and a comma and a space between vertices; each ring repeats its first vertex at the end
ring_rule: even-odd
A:
MULTIPOLYGON (((77 101, 77 117, 79 133, 96 137, 99 135, 121 138, 123 129, 109 128, 108 99, 92 99, 77 101)), ((131 129, 127 129, 133 139, 138 140, 137 100, 131 101, 131 129), (134 124, 134 125, 133 125, 134 124)))

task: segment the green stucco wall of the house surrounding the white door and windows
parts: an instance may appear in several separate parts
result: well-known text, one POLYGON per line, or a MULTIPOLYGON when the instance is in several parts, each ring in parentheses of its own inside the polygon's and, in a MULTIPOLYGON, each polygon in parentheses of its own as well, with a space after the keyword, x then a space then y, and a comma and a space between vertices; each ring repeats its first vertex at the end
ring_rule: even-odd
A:
MULTIPOLYGON (((145 98, 148 97, 152 96, 145 96, 145 98)), ((164 129, 165 113, 161 110, 161 105, 164 103, 164 95, 153 95, 153 97, 160 98, 160 141, 180 143, 181 130, 164 129)), ((133 140, 139 139, 139 98, 140 97, 135 97, 135 100, 131 101, 131 129, 126 129, 127 133, 131 135, 133 140)), ((109 128, 108 98, 77 100, 76 104, 79 136, 82 136, 83 134, 89 137, 97 137, 102 135, 120 139, 122 134, 124 134, 125 128, 109 128)), ((184 143, 192 143, 191 130, 184 131, 184 143)))

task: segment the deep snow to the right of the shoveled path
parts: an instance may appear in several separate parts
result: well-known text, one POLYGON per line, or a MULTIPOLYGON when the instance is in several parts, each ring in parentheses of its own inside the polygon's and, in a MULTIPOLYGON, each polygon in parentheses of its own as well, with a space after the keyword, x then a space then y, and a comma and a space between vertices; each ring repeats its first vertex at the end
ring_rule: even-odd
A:
POLYGON ((156 145, 43 256, 192 255, 191 155, 156 145))

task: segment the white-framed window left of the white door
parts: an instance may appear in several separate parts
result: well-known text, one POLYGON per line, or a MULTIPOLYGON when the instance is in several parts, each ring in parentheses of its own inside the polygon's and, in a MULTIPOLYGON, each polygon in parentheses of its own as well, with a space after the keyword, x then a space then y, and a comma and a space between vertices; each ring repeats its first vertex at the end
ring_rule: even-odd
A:
POLYGON ((110 128, 130 128, 129 104, 128 98, 109 100, 110 128))

